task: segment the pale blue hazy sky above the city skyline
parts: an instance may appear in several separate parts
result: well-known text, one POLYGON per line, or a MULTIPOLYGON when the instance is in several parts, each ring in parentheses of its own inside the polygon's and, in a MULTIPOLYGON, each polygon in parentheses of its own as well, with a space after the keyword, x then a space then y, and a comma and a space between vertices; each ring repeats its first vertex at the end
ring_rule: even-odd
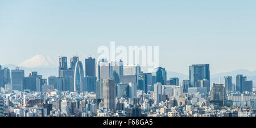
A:
POLYGON ((256 1, 65 1, 0 0, 0 64, 34 55, 78 53, 84 61, 97 48, 159 46, 160 65, 188 74, 191 64, 214 73, 256 70, 256 1))

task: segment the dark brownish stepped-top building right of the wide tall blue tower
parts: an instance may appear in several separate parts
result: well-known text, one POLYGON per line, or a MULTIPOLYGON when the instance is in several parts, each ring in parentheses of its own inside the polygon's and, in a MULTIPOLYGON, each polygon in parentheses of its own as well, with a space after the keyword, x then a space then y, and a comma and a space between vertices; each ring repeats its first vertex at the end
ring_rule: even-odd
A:
MULTIPOLYGON (((223 101, 226 100, 226 90, 223 84, 214 84, 210 92, 211 101, 223 101)), ((223 103, 223 102, 222 102, 223 103)))

